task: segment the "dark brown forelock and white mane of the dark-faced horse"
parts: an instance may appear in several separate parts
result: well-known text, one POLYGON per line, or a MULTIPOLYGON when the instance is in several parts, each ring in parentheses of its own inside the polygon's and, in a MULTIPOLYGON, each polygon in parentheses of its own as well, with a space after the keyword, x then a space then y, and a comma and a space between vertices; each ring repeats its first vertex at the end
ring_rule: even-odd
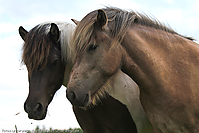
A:
MULTIPOLYGON (((56 23, 60 30, 61 58, 64 62, 73 59, 70 39, 75 26, 69 23, 56 23)), ((51 56, 50 49, 55 45, 49 36, 51 22, 45 22, 35 26, 25 36, 22 47, 22 63, 24 63, 29 73, 40 71, 46 65, 51 56)))

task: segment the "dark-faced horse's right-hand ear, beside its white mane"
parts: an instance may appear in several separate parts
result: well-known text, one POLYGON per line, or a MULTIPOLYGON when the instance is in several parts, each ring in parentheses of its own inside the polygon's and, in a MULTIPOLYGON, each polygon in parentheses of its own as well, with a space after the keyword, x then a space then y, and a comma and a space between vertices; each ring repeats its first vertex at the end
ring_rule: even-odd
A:
POLYGON ((59 28, 55 23, 51 23, 50 27, 50 35, 53 38, 53 40, 56 42, 59 40, 59 28))

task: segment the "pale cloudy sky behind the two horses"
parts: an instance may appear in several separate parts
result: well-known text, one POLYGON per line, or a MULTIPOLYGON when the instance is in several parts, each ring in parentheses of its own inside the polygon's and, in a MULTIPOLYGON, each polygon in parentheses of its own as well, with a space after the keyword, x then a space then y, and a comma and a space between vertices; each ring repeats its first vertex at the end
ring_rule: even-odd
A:
POLYGON ((45 120, 28 119, 23 104, 28 96, 28 74, 21 64, 23 40, 19 26, 31 30, 46 21, 72 23, 87 13, 114 6, 144 12, 169 25, 179 34, 199 40, 199 0, 0 0, 0 132, 41 128, 79 127, 66 88, 56 93, 45 120))

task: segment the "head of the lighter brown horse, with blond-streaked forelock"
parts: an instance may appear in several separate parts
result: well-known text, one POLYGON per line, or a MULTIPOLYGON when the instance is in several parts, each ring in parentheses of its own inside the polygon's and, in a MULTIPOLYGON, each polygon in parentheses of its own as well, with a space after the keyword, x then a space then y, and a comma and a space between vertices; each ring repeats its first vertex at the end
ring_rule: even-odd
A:
POLYGON ((104 97, 107 86, 111 86, 111 77, 121 65, 122 52, 119 46, 111 45, 114 40, 108 23, 103 10, 93 11, 78 22, 74 32, 72 43, 77 57, 67 86, 67 98, 75 106, 96 104, 97 99, 104 97))

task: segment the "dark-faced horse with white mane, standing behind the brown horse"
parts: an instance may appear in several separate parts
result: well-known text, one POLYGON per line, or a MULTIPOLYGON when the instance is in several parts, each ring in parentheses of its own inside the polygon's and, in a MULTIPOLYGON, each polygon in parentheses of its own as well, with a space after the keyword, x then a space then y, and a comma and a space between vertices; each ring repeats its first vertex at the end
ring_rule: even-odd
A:
MULTIPOLYGON (((29 32, 19 27, 19 34, 24 40, 22 62, 27 67, 29 78, 29 94, 24 103, 29 119, 44 119, 55 92, 61 85, 67 85, 76 56, 75 47, 70 43, 74 28, 72 24, 61 22, 42 23, 29 32)), ((138 86, 122 71, 117 74, 112 81, 115 90, 104 93, 105 98, 98 98, 95 104, 86 109, 73 106, 84 133, 151 131, 151 123, 139 101, 138 86), (121 88, 126 89, 125 93, 134 95, 134 102, 120 98, 121 88), (121 102, 113 97, 121 99, 121 102)))

